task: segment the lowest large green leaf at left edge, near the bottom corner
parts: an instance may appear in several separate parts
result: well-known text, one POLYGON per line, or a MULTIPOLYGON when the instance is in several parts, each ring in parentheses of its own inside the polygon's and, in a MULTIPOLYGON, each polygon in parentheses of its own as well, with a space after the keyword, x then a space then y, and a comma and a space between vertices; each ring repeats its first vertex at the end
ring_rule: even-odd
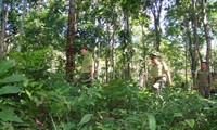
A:
POLYGON ((22 119, 14 114, 13 109, 4 109, 0 112, 0 119, 3 121, 23 122, 22 119))

